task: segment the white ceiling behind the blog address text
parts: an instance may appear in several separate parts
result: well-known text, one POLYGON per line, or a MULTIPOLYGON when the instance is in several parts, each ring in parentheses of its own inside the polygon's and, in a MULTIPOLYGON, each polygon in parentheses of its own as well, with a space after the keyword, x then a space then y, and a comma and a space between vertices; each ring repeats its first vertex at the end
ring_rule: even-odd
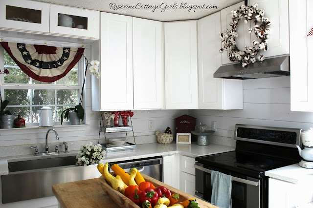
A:
MULTIPOLYGON (((227 6, 238 3, 242 0, 37 0, 47 3, 54 3, 59 5, 66 5, 72 7, 79 7, 90 10, 98 10, 102 12, 109 12, 121 15, 128 15, 133 17, 139 17, 144 19, 156 20, 156 21, 179 21, 179 20, 196 20, 205 17, 209 14, 213 14, 227 6), (113 10, 110 3, 115 3, 116 5, 131 5, 140 4, 141 6, 170 6, 176 5, 176 9, 165 8, 156 9, 154 12, 153 8, 147 9, 118 9, 113 10), (188 9, 179 9, 181 4, 187 3, 187 6, 217 6, 217 8, 212 9, 196 9, 196 11, 188 9)), ((139 6, 140 6, 139 5, 139 6)))

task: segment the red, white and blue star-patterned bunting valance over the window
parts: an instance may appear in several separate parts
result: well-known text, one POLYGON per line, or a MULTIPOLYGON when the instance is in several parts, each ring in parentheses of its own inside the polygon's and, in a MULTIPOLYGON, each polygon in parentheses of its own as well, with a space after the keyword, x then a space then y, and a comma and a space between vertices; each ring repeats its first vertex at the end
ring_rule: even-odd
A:
POLYGON ((0 43, 25 74, 46 83, 57 81, 66 76, 84 53, 84 48, 16 42, 0 43))

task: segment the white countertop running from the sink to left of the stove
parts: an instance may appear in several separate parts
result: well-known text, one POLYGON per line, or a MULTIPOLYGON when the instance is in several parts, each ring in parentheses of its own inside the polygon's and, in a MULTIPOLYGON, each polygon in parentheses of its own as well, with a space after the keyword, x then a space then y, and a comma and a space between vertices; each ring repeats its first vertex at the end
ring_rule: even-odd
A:
MULTIPOLYGON (((135 160, 141 158, 149 158, 156 156, 166 156, 173 154, 181 154, 188 157, 198 157, 204 155, 218 154, 222 152, 229 152, 235 150, 232 146, 223 146, 210 144, 208 146, 198 146, 196 144, 183 145, 183 144, 142 144, 137 145, 135 150, 119 151, 119 152, 107 152, 105 159, 100 161, 100 163, 118 162, 124 160, 135 160)), ((69 151, 69 153, 59 153, 57 155, 44 155, 44 156, 34 156, 34 155, 22 155, 22 156, 12 156, 12 157, 2 157, 0 158, 0 175, 7 175, 9 173, 8 163, 16 161, 34 160, 34 159, 44 159, 53 157, 64 157, 77 155, 78 150, 69 151)))

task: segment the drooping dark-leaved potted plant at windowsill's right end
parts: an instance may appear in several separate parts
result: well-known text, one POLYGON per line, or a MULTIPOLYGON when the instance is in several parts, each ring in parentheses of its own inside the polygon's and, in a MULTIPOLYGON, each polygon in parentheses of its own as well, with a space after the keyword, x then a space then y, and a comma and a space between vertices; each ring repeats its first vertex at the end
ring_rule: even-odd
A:
POLYGON ((84 115, 85 110, 81 104, 67 108, 61 113, 61 125, 63 124, 63 119, 68 119, 69 125, 80 125, 80 120, 84 120, 84 115))

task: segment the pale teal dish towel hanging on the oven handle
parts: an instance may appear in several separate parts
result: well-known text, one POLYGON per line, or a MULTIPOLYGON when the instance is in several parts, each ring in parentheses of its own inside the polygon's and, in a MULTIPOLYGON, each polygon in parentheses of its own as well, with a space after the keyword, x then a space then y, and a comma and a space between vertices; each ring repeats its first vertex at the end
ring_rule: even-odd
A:
POLYGON ((231 176, 212 170, 211 204, 220 208, 231 208, 231 176))

